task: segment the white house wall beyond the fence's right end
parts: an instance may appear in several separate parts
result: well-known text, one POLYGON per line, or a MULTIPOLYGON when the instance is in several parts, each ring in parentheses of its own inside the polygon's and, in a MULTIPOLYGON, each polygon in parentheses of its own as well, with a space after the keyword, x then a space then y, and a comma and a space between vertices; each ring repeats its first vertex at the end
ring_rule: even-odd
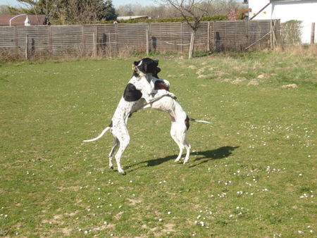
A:
MULTIPOLYGON (((317 0, 249 0, 249 18, 256 15, 254 20, 280 19, 281 23, 287 20, 302 21, 302 43, 310 43, 311 23, 317 25, 317 0), (270 4, 271 3, 271 4, 270 4), (266 6, 269 4, 268 6, 266 6), (264 6, 266 8, 256 15, 264 6)), ((315 30, 315 42, 317 39, 315 30)))

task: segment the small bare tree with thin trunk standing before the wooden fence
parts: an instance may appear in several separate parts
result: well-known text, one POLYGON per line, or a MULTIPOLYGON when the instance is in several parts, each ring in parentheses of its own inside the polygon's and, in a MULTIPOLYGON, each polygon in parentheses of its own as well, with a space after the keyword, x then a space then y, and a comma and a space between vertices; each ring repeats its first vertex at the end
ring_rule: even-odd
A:
POLYGON ((204 16, 208 15, 207 10, 212 1, 213 0, 157 0, 159 4, 173 6, 173 8, 182 15, 182 18, 184 18, 189 27, 192 28, 188 58, 192 58, 196 32, 201 20, 204 16))

